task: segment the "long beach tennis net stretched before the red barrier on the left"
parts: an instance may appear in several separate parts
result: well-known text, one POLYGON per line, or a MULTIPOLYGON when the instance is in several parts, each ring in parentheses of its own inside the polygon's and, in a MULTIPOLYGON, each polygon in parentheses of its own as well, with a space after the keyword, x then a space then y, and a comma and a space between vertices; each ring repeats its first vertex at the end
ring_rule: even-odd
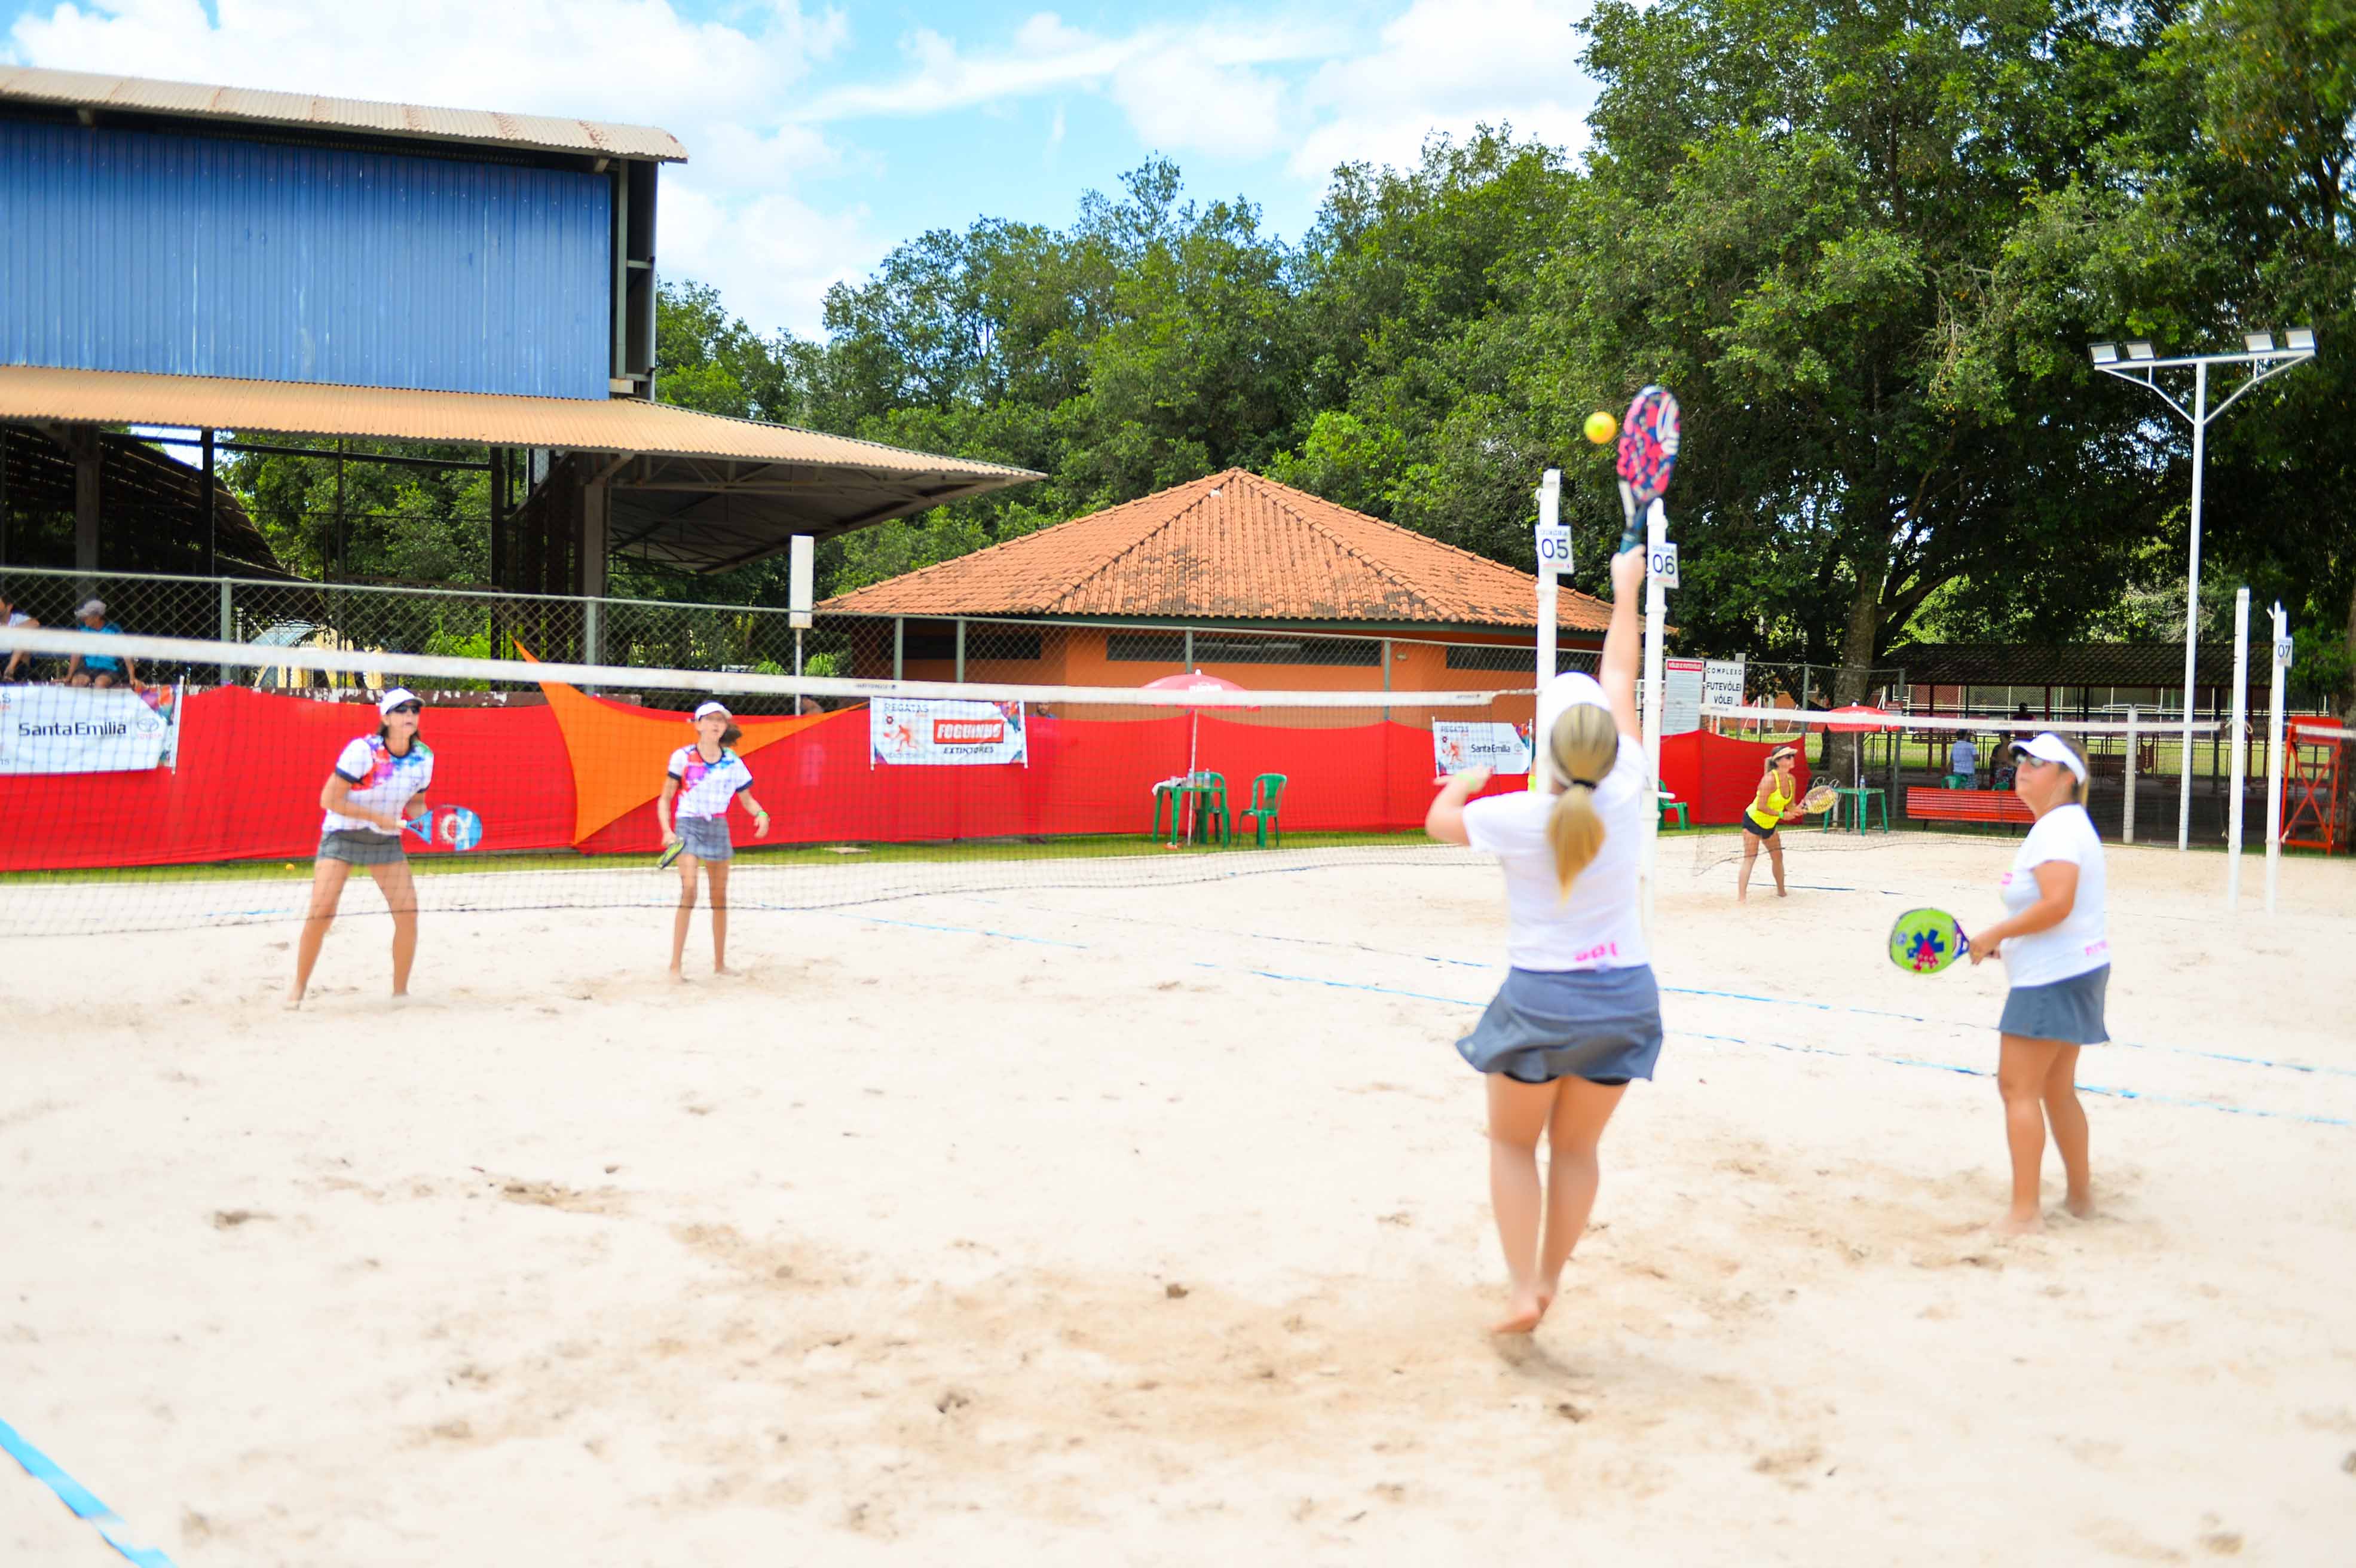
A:
MULTIPOLYGON (((730 909, 1451 864, 1465 852, 1421 833, 1435 772, 1487 763, 1515 786, 1531 713, 1527 690, 952 685, 0 631, 14 650, 45 678, 0 685, 0 937, 302 918, 330 777, 403 793, 382 779, 415 768, 379 735, 393 687, 424 704, 431 779, 393 810, 398 841, 356 843, 403 845, 419 911, 674 904, 674 777, 688 810, 721 810, 688 838, 716 859, 721 833, 730 909), (59 683, 75 655, 141 680, 59 683), (704 702, 733 716, 749 789, 681 756, 704 702)), ((344 895, 346 916, 382 909, 344 895)))

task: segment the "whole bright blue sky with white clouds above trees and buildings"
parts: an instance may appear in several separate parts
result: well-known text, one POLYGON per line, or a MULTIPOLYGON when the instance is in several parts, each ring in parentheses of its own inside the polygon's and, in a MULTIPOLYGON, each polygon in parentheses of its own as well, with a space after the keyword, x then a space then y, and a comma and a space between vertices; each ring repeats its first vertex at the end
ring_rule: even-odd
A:
POLYGON ((653 122, 660 266, 756 327, 975 217, 1070 221, 1152 153, 1298 235, 1341 160, 1432 129, 1581 144, 1586 0, 0 0, 0 59, 653 122), (396 21, 398 19, 398 21, 396 21))

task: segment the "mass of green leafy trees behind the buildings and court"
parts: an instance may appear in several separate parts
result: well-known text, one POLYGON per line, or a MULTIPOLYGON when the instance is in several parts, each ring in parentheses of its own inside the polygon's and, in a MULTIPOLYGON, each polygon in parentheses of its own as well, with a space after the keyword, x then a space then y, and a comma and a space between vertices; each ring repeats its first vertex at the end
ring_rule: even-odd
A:
MULTIPOLYGON (((1579 31, 1579 155, 1435 137, 1336 170, 1291 242, 1154 158, 1067 226, 900 245, 818 339, 671 283, 660 396, 1046 476, 829 542, 822 591, 1227 464, 1522 567, 1560 466, 1593 586, 1619 506, 1579 426, 1666 381, 1689 650, 1864 669, 2182 636, 2189 431, 2085 346, 2314 325, 2323 358, 2212 428, 2203 617, 2248 582, 2349 687, 2356 0, 1600 0, 1579 31)), ((252 480, 318 558, 318 476, 252 480)), ((370 511, 466 501, 393 490, 370 511)), ((419 567, 478 570, 450 527, 419 539, 419 567)))

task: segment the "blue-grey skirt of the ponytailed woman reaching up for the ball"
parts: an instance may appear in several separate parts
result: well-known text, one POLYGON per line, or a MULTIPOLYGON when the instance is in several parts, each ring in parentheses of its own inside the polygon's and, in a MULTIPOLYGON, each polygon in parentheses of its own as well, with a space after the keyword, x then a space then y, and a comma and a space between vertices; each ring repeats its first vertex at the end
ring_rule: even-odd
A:
POLYGON ((1661 986, 1633 970, 1508 970, 1456 1055, 1517 1083, 1652 1078, 1661 1059, 1661 986))

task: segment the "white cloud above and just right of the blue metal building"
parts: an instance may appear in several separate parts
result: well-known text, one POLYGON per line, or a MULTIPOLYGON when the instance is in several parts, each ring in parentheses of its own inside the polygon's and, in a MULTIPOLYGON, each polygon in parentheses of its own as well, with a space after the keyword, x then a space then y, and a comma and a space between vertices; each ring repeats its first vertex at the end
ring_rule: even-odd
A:
POLYGON ((792 118, 794 89, 848 40, 841 12, 768 0, 733 24, 669 0, 90 0, 28 12, 19 64, 167 80, 323 92, 401 104, 653 122, 688 146, 662 177, 669 278, 721 287, 761 330, 818 330, 820 294, 872 266, 886 242, 867 212, 818 212, 796 177, 843 148, 792 118), (401 47, 431 40, 434 47, 401 47))

